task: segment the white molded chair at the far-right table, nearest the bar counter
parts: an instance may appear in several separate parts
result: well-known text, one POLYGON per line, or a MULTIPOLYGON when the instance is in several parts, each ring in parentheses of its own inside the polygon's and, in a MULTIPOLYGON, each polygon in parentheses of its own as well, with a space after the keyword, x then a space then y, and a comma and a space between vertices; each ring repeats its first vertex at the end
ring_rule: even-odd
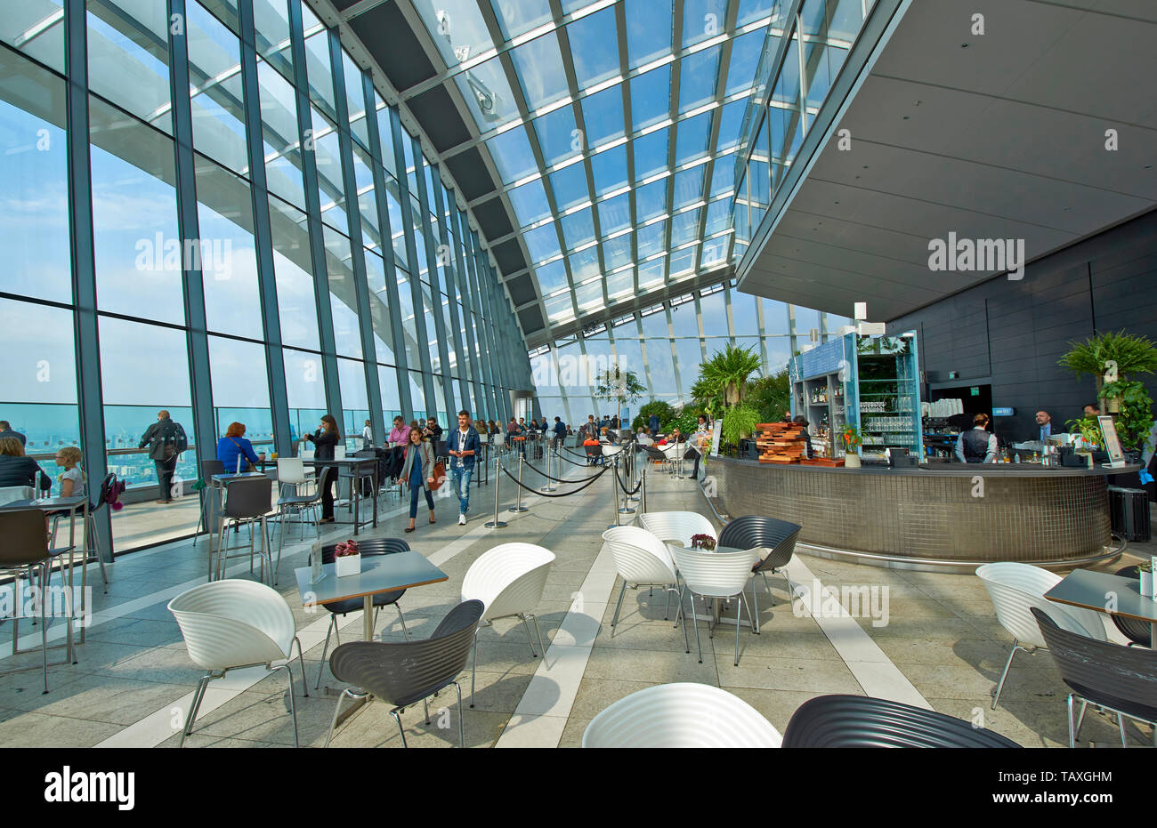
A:
POLYGON ((1031 607, 1037 607, 1048 615, 1061 629, 1095 641, 1107 641, 1105 624, 1097 613, 1045 598, 1045 593, 1061 582, 1061 576, 1056 572, 1029 563, 1009 561, 978 567, 977 577, 988 590, 988 597, 992 598, 993 607, 996 609, 996 620, 1014 638, 1012 650, 1009 652, 1008 661, 1004 663, 1004 672, 1001 673, 1001 680, 993 695, 993 710, 1001 701, 1004 679, 1008 678, 1017 650, 1029 653, 1038 649, 1047 650, 1037 619, 1030 612, 1031 607))

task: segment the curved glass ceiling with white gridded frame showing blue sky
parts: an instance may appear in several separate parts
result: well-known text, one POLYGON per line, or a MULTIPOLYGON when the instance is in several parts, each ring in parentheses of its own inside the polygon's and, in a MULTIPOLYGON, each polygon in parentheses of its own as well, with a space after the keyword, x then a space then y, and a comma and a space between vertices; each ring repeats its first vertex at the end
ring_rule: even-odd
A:
POLYGON ((548 326, 730 263, 781 0, 408 1, 477 127, 444 156, 493 160, 517 230, 489 242, 519 237, 548 326))

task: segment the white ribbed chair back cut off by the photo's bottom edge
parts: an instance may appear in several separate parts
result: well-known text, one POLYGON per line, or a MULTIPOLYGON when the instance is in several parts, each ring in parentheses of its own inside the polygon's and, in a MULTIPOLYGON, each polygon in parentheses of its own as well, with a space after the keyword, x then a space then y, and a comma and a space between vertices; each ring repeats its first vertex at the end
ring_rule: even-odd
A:
POLYGON ((762 714, 710 685, 678 682, 632 693, 591 719, 583 747, 780 747, 762 714))

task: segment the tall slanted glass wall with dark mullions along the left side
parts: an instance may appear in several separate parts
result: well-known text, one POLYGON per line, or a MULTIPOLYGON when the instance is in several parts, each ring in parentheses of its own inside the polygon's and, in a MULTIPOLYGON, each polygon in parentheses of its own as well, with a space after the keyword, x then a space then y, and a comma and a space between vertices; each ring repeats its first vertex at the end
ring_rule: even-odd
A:
POLYGON ((518 324, 465 199, 337 31, 301 0, 185 6, 183 37, 139 0, 0 23, 0 419, 50 475, 80 445, 90 478, 128 483, 117 552, 194 531, 199 461, 231 422, 289 454, 332 413, 356 449, 367 420, 381 442, 396 414, 445 421, 517 384, 494 348, 518 324), (162 409, 190 443, 172 505, 139 448, 162 409))

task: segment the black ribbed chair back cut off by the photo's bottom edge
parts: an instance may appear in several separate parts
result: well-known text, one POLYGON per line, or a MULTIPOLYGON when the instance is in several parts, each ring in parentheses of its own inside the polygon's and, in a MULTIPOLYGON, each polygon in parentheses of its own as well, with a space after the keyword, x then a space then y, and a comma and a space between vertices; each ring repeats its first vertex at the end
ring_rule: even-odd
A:
POLYGON ((1020 747, 971 722, 869 696, 817 696, 801 704, 783 747, 1020 747))

